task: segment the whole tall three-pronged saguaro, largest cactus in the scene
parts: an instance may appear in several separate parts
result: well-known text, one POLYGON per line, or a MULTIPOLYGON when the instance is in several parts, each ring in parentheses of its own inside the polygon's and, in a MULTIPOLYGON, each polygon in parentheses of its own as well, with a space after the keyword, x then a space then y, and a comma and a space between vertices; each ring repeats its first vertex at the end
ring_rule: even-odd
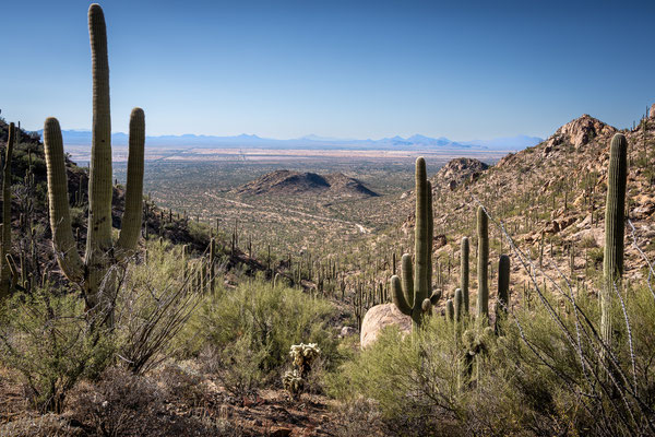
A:
MULTIPOLYGON (((129 256, 136 246, 143 211, 143 147, 145 119, 141 108, 130 116, 130 146, 126 212, 120 236, 111 241, 111 122, 109 115, 109 67, 105 16, 98 4, 88 9, 93 71, 93 139, 88 180, 88 229, 84 260, 78 253, 71 228, 66 163, 61 129, 56 118, 46 119, 44 145, 48 170, 50 227, 57 261, 67 277, 84 291, 87 308, 98 304, 103 283, 109 268, 129 256)), ((110 298, 109 293, 103 296, 110 298)))

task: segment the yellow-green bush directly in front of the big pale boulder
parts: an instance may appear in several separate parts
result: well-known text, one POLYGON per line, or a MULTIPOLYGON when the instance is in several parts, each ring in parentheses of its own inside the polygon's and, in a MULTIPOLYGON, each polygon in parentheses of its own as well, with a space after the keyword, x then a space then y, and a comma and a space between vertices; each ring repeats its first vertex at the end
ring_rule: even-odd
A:
POLYGON ((329 392, 346 404, 360 397, 374 401, 393 434, 433 435, 444 421, 463 416, 457 392, 461 354, 452 326, 442 317, 426 324, 415 336, 385 329, 372 347, 330 376, 329 392))

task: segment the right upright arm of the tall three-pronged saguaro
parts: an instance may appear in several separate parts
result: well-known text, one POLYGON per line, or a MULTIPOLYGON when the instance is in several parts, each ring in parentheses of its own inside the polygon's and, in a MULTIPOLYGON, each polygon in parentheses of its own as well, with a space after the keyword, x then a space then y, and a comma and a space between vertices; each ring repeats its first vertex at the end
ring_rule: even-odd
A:
POLYGON ((143 214, 143 154, 145 143, 145 115, 134 108, 130 116, 130 155, 128 157, 128 182, 126 187, 126 212, 123 213, 118 255, 129 253, 136 247, 143 214))

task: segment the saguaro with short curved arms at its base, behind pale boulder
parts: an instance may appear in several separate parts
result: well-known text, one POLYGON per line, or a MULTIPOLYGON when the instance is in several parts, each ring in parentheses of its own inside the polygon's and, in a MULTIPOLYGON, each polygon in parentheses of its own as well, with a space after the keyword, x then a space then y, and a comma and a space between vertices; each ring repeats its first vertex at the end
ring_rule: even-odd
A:
POLYGON ((430 228, 432 221, 429 205, 431 199, 430 185, 426 173, 426 161, 422 157, 416 160, 416 225, 414 238, 414 251, 416 257, 416 269, 413 269, 412 257, 403 255, 401 260, 403 280, 396 275, 391 277, 391 293, 393 303, 404 315, 410 316, 414 326, 419 326, 422 318, 424 300, 428 299, 436 304, 439 299, 437 294, 429 295, 429 282, 431 277, 430 258, 432 241, 430 228), (415 270, 413 274, 413 270, 415 270))

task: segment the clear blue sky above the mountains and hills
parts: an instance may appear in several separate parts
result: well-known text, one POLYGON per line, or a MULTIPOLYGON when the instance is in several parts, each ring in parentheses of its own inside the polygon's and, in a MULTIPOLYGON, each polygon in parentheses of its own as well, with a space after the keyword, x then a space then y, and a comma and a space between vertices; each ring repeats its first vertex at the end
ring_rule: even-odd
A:
MULTIPOLYGON (((91 126, 87 1, 2 4, 2 116, 91 126)), ((547 137, 655 102, 655 1, 100 3, 112 130, 454 140, 547 137)))

